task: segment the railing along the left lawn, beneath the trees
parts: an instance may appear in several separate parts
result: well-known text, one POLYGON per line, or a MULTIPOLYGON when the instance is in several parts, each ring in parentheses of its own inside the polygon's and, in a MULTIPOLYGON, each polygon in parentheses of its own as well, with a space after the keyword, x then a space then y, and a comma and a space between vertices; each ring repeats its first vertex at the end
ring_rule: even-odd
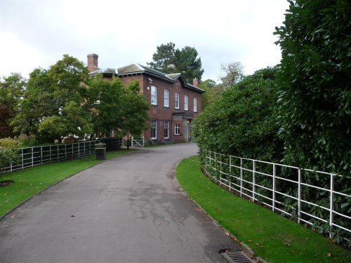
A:
POLYGON ((100 140, 76 142, 70 144, 55 144, 18 149, 20 161, 8 163, 7 167, 0 169, 1 173, 13 172, 44 163, 74 159, 95 153, 95 143, 103 142, 107 149, 118 149, 123 145, 121 138, 103 138, 100 140))

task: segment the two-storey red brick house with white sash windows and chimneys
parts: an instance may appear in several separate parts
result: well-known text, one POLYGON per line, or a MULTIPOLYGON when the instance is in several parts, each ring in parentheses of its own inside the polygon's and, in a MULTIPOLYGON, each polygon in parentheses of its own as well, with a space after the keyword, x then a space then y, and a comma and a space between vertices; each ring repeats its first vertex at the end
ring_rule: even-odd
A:
POLYGON ((201 94, 197 79, 187 83, 178 74, 164 74, 139 64, 118 69, 99 69, 98 55, 88 55, 90 75, 102 74, 105 78, 119 76, 128 84, 138 81, 140 93, 150 102, 150 129, 144 132, 145 139, 158 142, 189 142, 192 136, 192 121, 201 112, 201 94))

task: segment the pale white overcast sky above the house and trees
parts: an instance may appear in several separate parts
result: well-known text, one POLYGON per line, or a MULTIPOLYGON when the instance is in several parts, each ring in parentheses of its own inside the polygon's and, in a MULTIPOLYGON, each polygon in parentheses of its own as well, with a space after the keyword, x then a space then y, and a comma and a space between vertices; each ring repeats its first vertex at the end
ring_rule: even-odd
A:
POLYGON ((86 63, 96 53, 100 68, 146 65, 168 42, 197 49, 203 80, 217 81, 228 62, 252 74, 279 63, 272 33, 288 7, 286 0, 0 0, 0 76, 27 77, 63 54, 86 63))

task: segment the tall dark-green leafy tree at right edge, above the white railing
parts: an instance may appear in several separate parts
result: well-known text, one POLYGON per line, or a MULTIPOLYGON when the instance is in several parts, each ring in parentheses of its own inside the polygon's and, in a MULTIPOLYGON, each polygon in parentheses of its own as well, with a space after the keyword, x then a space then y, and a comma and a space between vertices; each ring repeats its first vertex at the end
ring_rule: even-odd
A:
POLYGON ((351 175, 351 5, 296 0, 277 43, 286 163, 351 175))

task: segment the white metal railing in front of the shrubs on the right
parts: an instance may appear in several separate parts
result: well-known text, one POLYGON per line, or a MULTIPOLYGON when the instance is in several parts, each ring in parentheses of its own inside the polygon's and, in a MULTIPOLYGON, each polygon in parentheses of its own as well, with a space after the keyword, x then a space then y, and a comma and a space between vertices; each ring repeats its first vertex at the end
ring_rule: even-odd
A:
MULTIPOLYGON (((350 189, 347 193, 342 190, 346 182, 350 185, 351 177, 227 156, 213 151, 206 151, 204 157, 206 175, 228 190, 236 191, 241 197, 253 202, 263 203, 272 211, 295 217, 299 224, 315 226, 316 222, 327 223, 330 229, 336 227, 346 231, 346 240, 351 237, 351 224, 346 227, 345 224, 338 224, 340 219, 343 222, 351 220, 350 213, 340 211, 340 198, 344 203, 351 202, 350 189), (282 192, 284 189, 289 191, 282 192), (329 200, 322 204, 318 203, 320 200, 309 200, 310 191, 316 189, 320 191, 320 198, 329 200), (336 203, 336 200, 339 202, 336 203), (311 207, 318 208, 321 212, 312 214, 311 207)), ((331 231, 329 237, 332 237, 331 231)))

